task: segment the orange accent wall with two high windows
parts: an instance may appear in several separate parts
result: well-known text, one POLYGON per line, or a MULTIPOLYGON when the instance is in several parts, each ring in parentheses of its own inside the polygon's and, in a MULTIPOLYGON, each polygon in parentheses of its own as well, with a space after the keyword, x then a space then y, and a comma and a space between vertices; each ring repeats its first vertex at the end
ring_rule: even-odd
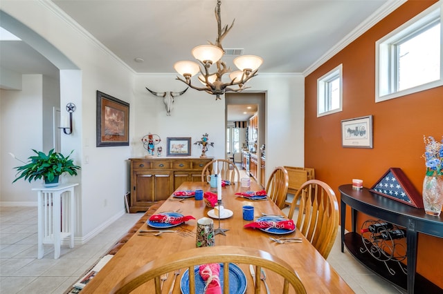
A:
MULTIPOLYGON (((401 168, 422 192, 423 135, 442 139, 443 87, 375 103, 375 42, 435 2, 407 1, 305 79, 305 166, 316 168, 316 178, 334 189, 338 202, 338 186, 357 178, 371 188, 390 167, 401 168), (317 117, 317 79, 341 63, 343 111, 317 117), (373 115, 374 148, 343 148, 341 120, 366 115, 373 115)), ((358 227, 363 218, 373 217, 359 217, 358 227)), ((351 229, 350 217, 345 227, 351 229)), ((419 235, 417 272, 441 288, 442 249, 443 239, 419 235)))

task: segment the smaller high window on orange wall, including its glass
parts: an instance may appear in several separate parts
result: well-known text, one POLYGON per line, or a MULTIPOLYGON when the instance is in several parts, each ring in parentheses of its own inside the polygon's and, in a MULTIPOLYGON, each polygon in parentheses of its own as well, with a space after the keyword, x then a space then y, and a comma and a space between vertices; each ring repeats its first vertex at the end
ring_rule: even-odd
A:
POLYGON ((317 117, 342 110, 342 65, 317 80, 317 117))

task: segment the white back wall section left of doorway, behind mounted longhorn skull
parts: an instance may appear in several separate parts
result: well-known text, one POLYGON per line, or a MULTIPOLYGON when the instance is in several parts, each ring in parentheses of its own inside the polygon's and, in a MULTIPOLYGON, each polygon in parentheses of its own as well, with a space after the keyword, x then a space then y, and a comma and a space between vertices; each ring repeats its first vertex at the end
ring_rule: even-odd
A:
POLYGON ((168 137, 190 137, 191 156, 199 157, 201 148, 194 145, 205 133, 215 147, 209 147, 208 157, 224 158, 225 131, 223 100, 215 101, 215 96, 189 88, 185 94, 174 99, 171 115, 166 115, 163 98, 152 95, 145 87, 155 92, 179 92, 186 88, 181 81, 175 80, 174 74, 137 75, 134 83, 134 136, 131 140, 132 157, 147 155, 141 139, 148 133, 161 137, 163 155, 166 155, 168 137))

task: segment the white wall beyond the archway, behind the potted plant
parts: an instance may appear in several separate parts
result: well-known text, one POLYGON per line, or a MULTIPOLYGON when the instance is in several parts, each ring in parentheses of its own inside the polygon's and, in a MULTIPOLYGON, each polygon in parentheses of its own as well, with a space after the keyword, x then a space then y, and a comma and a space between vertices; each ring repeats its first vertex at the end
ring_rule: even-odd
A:
POLYGON ((31 148, 42 150, 43 118, 43 77, 23 75, 22 90, 0 90, 0 199, 4 204, 35 205, 37 195, 30 189, 38 183, 29 184, 24 179, 12 184, 17 171, 15 166, 23 165, 8 153, 13 153, 22 161, 35 155, 31 148))

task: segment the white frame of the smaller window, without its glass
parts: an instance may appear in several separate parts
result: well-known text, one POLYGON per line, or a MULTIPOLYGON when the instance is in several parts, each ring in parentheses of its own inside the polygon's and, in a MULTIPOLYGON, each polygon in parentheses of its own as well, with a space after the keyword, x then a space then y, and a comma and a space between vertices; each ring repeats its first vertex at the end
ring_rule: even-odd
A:
POLYGON ((323 117, 341 111, 343 111, 343 64, 336 66, 336 68, 317 79, 317 117, 323 117), (340 79, 338 85, 340 89, 340 94, 338 95, 338 108, 325 110, 327 108, 326 104, 332 103, 329 85, 337 78, 340 79))

